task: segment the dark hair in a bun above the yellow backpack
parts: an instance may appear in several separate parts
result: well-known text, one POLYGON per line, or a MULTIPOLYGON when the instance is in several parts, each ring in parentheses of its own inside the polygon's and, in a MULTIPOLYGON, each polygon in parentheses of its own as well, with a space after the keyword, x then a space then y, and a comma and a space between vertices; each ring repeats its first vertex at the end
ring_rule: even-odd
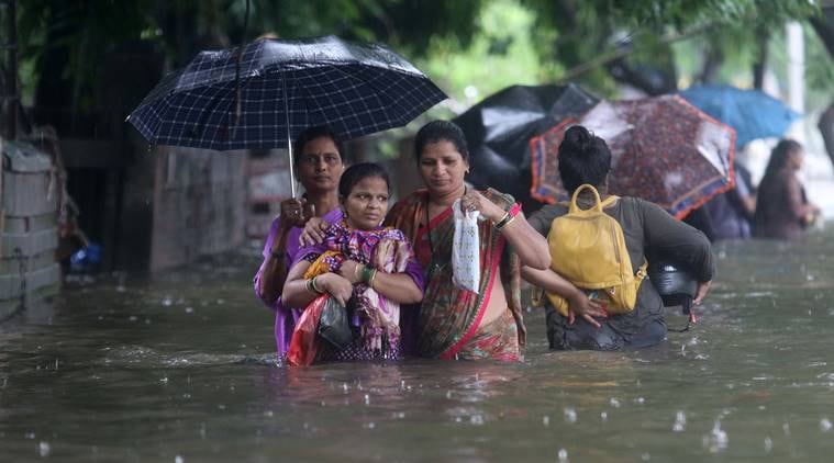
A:
POLYGON ((599 187, 611 171, 611 150, 605 140, 581 125, 565 132, 559 144, 559 177, 568 193, 581 184, 599 187))

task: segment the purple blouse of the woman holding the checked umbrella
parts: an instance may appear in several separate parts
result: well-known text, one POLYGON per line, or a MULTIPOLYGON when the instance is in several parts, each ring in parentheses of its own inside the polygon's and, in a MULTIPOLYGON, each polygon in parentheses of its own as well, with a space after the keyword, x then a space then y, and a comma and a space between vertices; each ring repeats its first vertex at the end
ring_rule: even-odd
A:
MULTIPOLYGON (((342 207, 334 207, 333 211, 324 214, 322 218, 331 224, 340 222, 342 219, 342 207)), ((258 272, 255 273, 255 294, 258 297, 262 297, 259 291, 260 274, 264 271, 266 261, 269 258, 269 252, 273 249, 273 241, 278 235, 280 221, 280 217, 276 217, 275 221, 273 221, 273 226, 269 229, 269 236, 267 236, 266 245, 264 246, 264 262, 260 263, 258 272)), ((287 269, 291 268, 296 262, 298 262, 299 258, 301 257, 298 252, 300 249, 298 239, 301 236, 301 232, 303 232, 303 228, 292 227, 288 233, 286 258, 287 269)), ((281 303, 280 297, 278 297, 278 300, 270 306, 270 308, 275 310, 275 342, 278 348, 278 355, 283 358, 283 355, 287 353, 287 349, 290 346, 292 330, 296 329, 296 323, 298 321, 299 317, 301 317, 303 308, 285 307, 281 303)))

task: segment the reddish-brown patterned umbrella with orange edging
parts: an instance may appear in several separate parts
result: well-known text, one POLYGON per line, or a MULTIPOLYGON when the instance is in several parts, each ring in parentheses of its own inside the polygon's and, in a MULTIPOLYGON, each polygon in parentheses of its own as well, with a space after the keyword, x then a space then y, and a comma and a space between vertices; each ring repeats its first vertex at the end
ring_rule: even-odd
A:
POLYGON ((612 194, 652 201, 678 218, 733 187, 735 132, 678 95, 598 103, 530 140, 533 197, 566 197, 558 171, 565 131, 585 125, 611 148, 612 194))

